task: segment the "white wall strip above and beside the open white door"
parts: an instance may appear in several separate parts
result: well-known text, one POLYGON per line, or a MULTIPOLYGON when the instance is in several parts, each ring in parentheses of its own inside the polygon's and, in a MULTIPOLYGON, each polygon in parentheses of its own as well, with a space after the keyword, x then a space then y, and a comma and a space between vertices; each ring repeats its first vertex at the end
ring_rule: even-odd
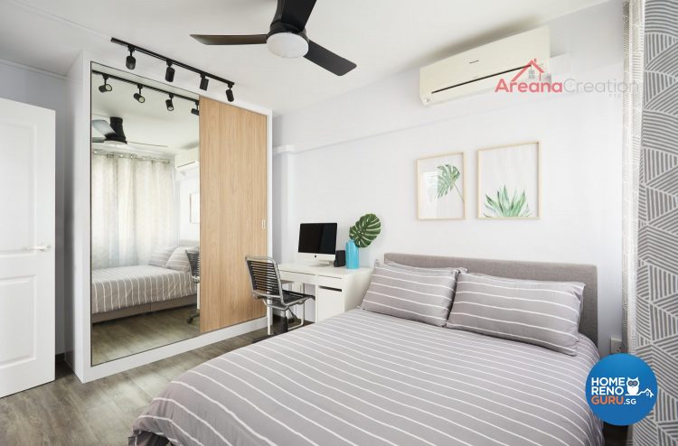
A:
POLYGON ((64 351, 64 141, 66 81, 61 76, 0 60, 0 98, 12 99, 56 112, 56 353, 64 351))

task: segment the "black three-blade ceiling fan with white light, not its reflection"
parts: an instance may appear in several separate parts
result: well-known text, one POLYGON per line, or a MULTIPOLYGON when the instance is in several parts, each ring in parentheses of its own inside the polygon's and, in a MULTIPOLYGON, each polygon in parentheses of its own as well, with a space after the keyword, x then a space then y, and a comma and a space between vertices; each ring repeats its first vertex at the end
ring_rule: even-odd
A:
POLYGON ((284 58, 304 56, 337 76, 344 76, 356 65, 334 54, 306 37, 306 22, 313 12, 315 0, 278 0, 276 14, 268 34, 212 35, 191 34, 205 45, 252 45, 266 43, 268 50, 284 58))

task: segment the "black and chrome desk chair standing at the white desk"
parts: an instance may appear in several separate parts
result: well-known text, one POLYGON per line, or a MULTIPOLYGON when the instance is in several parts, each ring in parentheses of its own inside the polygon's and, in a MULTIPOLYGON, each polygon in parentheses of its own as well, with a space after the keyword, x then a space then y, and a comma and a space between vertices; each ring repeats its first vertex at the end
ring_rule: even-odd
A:
POLYGON ((280 282, 278 264, 271 257, 245 257, 250 272, 252 297, 261 299, 268 308, 283 311, 283 332, 302 327, 306 318, 304 303, 313 299, 312 294, 295 293, 284 290, 280 282), (301 323, 294 327, 287 326, 287 311, 294 305, 301 305, 301 323))

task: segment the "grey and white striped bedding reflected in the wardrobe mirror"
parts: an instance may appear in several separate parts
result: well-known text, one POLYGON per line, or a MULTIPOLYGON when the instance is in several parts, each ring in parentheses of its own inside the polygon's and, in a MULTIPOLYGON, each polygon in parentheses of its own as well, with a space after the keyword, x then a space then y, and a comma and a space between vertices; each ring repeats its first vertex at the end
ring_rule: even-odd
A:
POLYGON ((92 314, 169 301, 197 292, 191 274, 153 265, 92 271, 92 314))

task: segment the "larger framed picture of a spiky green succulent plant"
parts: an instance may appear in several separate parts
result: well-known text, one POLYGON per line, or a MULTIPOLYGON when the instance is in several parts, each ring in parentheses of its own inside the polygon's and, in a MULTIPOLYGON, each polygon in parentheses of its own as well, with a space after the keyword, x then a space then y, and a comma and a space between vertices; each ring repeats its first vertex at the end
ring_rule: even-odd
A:
POLYGON ((540 218, 539 142, 478 150, 478 218, 540 218))

